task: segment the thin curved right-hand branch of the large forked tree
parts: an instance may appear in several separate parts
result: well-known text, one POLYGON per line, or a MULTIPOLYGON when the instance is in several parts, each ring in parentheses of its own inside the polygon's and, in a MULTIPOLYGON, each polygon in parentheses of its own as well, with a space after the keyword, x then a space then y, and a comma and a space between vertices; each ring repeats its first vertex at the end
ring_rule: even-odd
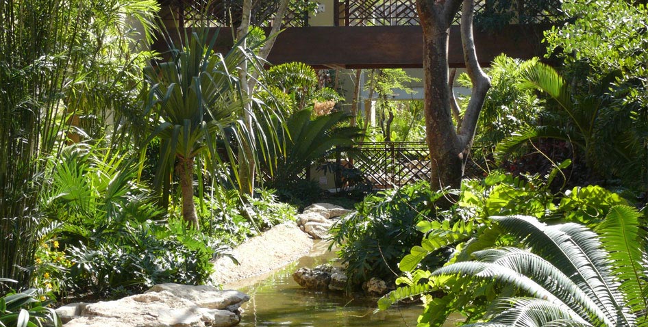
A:
POLYGON ((474 0, 464 0, 461 12, 461 42, 464 48, 464 61, 466 62, 468 76, 473 83, 471 99, 461 122, 458 135, 459 141, 464 148, 469 148, 469 145, 473 142, 479 112, 482 111, 486 93, 490 89, 490 78, 479 66, 475 51, 475 38, 473 38, 474 5, 474 0))

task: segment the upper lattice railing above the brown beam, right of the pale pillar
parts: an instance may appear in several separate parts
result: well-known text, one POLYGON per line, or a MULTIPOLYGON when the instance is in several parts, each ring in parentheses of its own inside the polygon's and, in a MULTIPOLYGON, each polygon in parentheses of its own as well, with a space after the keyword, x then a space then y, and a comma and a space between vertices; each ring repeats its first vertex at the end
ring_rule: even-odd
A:
MULTIPOLYGON (((494 0, 477 0, 476 20, 506 18, 507 23, 551 23, 560 16, 560 0, 508 1, 501 6, 494 0)), ((414 0, 335 0, 336 26, 419 25, 414 0)), ((454 23, 459 23, 460 16, 454 23)))

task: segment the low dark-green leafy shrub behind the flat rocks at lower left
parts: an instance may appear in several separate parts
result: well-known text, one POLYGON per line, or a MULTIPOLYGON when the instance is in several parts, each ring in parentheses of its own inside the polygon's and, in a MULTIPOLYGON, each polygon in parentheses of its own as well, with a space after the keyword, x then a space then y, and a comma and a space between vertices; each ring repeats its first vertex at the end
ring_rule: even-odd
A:
POLYGON ((68 247, 74 293, 118 296, 159 283, 210 282, 216 242, 179 219, 127 224, 97 244, 68 247))

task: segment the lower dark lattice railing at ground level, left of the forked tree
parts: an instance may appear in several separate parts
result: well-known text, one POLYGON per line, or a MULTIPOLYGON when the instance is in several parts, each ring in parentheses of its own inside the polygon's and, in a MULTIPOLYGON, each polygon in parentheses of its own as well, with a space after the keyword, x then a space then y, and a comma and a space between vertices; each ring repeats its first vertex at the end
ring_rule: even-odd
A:
POLYGON ((354 146, 351 166, 364 172, 377 188, 391 188, 429 179, 425 142, 372 142, 354 146))

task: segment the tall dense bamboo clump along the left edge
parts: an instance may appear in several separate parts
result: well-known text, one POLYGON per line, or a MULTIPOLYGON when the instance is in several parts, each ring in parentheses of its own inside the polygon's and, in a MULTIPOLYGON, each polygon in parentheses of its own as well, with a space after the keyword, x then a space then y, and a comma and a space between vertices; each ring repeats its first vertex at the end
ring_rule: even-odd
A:
POLYGON ((38 207, 49 179, 42 159, 66 138, 110 132, 114 148, 142 130, 132 127, 142 127, 134 112, 150 54, 134 50, 132 24, 149 39, 157 11, 149 0, 1 1, 0 234, 11 236, 0 239, 0 276, 29 285, 34 231, 47 225, 38 207))

